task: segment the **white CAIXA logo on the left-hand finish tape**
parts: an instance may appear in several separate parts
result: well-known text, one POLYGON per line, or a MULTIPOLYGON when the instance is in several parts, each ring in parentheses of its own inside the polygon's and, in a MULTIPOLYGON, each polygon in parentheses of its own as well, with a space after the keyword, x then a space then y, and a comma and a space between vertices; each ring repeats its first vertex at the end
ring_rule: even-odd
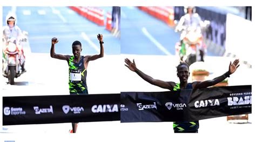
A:
POLYGON ((118 105, 93 105, 92 106, 92 112, 93 113, 99 113, 99 112, 118 112, 118 105))

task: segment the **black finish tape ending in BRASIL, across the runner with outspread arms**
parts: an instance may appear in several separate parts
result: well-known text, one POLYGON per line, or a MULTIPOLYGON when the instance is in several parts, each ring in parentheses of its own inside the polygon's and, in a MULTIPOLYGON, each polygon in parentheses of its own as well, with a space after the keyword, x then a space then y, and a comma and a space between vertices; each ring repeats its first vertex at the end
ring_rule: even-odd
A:
POLYGON ((195 121, 252 112, 252 86, 121 92, 121 123, 195 121))

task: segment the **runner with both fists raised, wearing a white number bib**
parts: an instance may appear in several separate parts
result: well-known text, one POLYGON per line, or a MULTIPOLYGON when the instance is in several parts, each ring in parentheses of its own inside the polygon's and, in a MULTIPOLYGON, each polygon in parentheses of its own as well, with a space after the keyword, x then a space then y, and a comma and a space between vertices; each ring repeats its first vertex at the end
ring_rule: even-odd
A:
MULTIPOLYGON (((90 60, 96 60, 104 56, 103 35, 97 35, 100 44, 99 55, 80 56, 82 51, 82 44, 75 41, 72 44, 73 56, 60 55, 55 53, 55 44, 58 39, 53 37, 51 39, 51 57, 61 60, 66 60, 69 65, 69 92, 70 94, 88 94, 86 85, 87 66, 90 60)), ((76 133, 78 123, 72 123, 71 133, 76 133)))

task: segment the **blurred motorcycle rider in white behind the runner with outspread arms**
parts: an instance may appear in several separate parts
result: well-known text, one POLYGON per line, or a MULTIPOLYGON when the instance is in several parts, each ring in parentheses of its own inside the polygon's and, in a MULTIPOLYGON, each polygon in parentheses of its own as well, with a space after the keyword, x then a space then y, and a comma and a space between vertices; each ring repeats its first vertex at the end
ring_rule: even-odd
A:
MULTIPOLYGON (((178 25, 176 26, 176 31, 182 31, 184 28, 196 28, 196 32, 201 34, 201 28, 204 26, 204 22, 201 21, 201 17, 196 13, 196 8, 194 6, 184 6, 185 15, 182 16, 179 20, 178 25)), ((183 30, 180 35, 180 45, 181 45, 181 53, 185 54, 185 44, 183 43, 183 39, 186 36, 186 31, 183 30)), ((203 41, 199 42, 199 51, 200 51, 200 61, 204 62, 204 48, 203 41)))

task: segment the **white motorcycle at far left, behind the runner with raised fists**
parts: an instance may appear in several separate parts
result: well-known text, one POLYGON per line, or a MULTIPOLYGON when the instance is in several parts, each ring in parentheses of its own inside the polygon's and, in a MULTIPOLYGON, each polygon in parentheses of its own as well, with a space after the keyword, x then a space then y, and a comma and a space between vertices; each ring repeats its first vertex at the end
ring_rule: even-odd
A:
MULTIPOLYGON (((27 32, 24 33, 24 38, 19 41, 26 42, 27 40, 27 32)), ((14 78, 18 78, 24 72, 22 72, 22 64, 25 62, 25 57, 20 53, 16 42, 16 39, 9 38, 8 40, 3 39, 3 45, 5 49, 3 49, 3 76, 8 78, 9 84, 14 85, 14 78)))

